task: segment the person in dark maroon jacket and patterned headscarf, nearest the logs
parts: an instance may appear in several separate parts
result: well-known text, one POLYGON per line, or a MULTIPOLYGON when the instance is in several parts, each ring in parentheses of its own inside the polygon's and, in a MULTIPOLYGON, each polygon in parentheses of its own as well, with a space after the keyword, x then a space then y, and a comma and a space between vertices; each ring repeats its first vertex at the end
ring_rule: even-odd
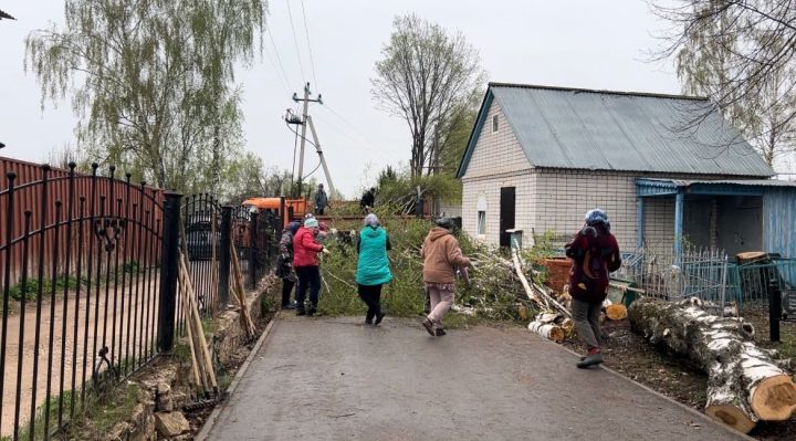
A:
POLYGON ((605 211, 590 210, 585 220, 583 230, 566 245, 566 255, 573 261, 569 270, 573 319, 588 351, 577 364, 579 368, 603 363, 599 314, 608 295, 609 274, 621 265, 619 245, 605 211))

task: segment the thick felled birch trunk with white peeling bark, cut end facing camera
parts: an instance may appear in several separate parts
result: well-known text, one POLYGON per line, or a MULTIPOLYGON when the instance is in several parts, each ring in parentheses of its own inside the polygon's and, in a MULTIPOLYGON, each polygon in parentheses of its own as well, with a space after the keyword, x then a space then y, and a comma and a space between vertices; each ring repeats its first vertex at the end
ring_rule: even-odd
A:
POLYGON ((787 420, 796 410, 793 378, 755 346, 751 324, 652 298, 633 302, 628 314, 633 330, 708 374, 705 413, 748 433, 758 420, 787 420))

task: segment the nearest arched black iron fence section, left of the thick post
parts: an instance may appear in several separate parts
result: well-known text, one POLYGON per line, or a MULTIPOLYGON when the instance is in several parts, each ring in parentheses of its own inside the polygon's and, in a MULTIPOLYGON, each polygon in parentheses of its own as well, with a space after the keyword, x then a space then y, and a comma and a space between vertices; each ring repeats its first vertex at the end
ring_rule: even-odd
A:
POLYGON ((157 354, 163 191, 97 168, 9 171, 0 191, 0 433, 14 440, 46 439, 157 354))

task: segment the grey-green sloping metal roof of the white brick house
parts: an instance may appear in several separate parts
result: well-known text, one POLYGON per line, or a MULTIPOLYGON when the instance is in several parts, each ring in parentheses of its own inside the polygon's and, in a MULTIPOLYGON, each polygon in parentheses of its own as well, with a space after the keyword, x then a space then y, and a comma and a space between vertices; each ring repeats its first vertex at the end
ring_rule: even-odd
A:
POLYGON ((459 167, 498 103, 535 167, 769 177, 774 170, 706 98, 490 83, 459 167), (684 129, 694 118, 701 123, 684 129))

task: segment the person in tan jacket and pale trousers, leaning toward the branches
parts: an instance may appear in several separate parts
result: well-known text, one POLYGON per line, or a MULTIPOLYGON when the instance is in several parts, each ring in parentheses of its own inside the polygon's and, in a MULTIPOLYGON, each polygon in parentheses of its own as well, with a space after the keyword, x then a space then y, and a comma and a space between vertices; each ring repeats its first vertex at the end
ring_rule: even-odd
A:
POLYGON ((437 220, 437 227, 429 231, 420 256, 423 258, 423 283, 431 301, 429 315, 422 326, 432 336, 446 335, 442 316, 453 305, 457 267, 470 265, 462 255, 459 241, 453 237, 453 221, 450 218, 437 220))

